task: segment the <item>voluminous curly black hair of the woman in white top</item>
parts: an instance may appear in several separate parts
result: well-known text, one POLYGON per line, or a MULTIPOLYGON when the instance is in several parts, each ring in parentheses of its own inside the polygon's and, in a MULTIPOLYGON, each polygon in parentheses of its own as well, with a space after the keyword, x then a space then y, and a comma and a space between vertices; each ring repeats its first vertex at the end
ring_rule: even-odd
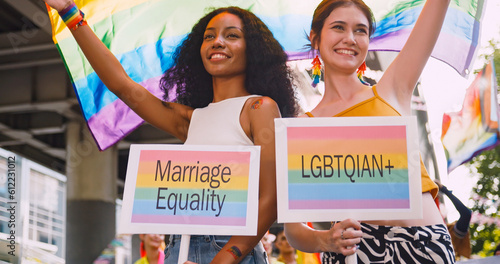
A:
POLYGON ((218 8, 201 18, 191 33, 174 52, 174 65, 160 80, 160 88, 176 94, 176 102, 193 108, 205 107, 213 100, 212 76, 205 70, 200 55, 203 35, 210 20, 218 14, 230 13, 243 23, 246 41, 246 80, 248 93, 272 98, 283 117, 297 114, 292 75, 287 54, 267 26, 250 11, 239 7, 218 8))

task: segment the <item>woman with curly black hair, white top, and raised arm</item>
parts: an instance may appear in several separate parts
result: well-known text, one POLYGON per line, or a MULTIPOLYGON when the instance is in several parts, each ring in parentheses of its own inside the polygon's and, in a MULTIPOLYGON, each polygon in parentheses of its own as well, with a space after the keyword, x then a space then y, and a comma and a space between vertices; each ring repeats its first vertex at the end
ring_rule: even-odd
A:
MULTIPOLYGON (((72 0, 45 1, 71 19, 65 22, 99 78, 145 121, 185 144, 261 147, 257 235, 191 236, 188 263, 266 263, 259 241, 276 219, 274 119, 294 116, 297 106, 287 56, 264 23, 237 7, 203 17, 161 80, 165 98, 177 95, 165 102, 126 74, 72 0)), ((170 240, 165 263, 177 263, 180 236, 170 240)))

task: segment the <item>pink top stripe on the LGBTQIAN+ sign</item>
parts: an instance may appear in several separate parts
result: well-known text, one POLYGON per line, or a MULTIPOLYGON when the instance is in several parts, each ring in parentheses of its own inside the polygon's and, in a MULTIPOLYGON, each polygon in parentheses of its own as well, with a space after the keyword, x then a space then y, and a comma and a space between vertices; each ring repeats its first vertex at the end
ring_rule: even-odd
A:
POLYGON ((288 127, 289 140, 299 139, 405 139, 405 126, 288 127))

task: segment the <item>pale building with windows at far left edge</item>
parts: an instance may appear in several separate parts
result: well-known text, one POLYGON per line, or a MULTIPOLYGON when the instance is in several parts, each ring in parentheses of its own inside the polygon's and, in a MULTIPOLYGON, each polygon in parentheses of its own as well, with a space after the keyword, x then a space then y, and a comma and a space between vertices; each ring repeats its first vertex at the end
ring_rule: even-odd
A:
POLYGON ((65 263, 66 177, 0 149, 0 261, 65 263))

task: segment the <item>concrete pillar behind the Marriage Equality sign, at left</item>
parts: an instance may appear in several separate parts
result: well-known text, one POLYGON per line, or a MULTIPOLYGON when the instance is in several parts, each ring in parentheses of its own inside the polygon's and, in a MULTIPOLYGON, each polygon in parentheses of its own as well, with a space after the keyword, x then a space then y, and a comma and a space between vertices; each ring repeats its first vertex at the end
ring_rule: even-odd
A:
POLYGON ((118 153, 100 152, 85 123, 67 123, 66 263, 92 263, 115 237, 118 153))

